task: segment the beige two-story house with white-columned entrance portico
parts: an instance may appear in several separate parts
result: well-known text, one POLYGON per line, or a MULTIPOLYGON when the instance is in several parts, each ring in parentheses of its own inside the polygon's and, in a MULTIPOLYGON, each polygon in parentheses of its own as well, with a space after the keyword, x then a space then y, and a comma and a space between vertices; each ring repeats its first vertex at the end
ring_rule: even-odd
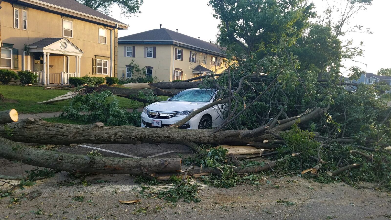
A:
POLYGON ((118 29, 128 25, 75 0, 3 0, 0 68, 30 70, 39 82, 117 76, 118 29))

